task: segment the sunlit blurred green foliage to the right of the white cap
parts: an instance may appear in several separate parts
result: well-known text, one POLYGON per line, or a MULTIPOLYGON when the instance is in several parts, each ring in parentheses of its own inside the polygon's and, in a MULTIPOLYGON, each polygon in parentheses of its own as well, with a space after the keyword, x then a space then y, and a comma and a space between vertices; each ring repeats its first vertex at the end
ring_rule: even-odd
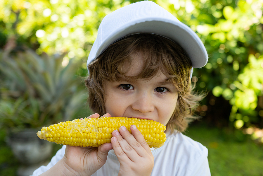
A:
POLYGON ((262 1, 192 0, 173 1, 171 5, 169 2, 161 5, 196 31, 207 48, 207 65, 194 71, 193 80, 198 80, 198 88, 229 100, 233 106, 229 120, 236 128, 260 124, 259 112, 263 109, 258 99, 263 95, 262 1))

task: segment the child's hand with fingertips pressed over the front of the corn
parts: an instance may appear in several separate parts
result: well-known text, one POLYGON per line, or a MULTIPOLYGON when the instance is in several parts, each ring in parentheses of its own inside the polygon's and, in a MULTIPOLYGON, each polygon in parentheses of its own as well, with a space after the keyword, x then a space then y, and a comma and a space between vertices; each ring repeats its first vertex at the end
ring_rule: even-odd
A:
POLYGON ((141 132, 131 125, 131 132, 120 127, 120 133, 115 130, 111 143, 120 162, 118 176, 147 176, 151 175, 154 165, 153 154, 141 132))

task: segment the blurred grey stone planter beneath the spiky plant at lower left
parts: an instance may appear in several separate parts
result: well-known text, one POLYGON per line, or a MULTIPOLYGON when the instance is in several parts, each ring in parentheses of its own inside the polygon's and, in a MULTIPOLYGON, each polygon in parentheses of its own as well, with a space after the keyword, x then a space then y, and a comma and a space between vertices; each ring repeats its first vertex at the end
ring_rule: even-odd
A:
POLYGON ((13 154, 21 162, 18 176, 31 175, 52 153, 52 143, 37 137, 36 129, 26 129, 18 133, 11 133, 7 137, 7 143, 13 154))

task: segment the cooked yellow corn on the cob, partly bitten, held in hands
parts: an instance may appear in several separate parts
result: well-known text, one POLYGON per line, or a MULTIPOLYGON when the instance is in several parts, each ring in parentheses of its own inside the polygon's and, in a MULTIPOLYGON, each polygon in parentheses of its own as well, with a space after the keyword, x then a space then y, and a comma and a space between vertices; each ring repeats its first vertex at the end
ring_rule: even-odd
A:
POLYGON ((119 130, 123 125, 131 133, 130 127, 134 124, 141 131, 150 147, 159 148, 165 140, 166 126, 147 119, 128 117, 100 117, 75 119, 42 127, 37 132, 40 139, 70 146, 98 147, 103 143, 110 143, 112 132, 119 130))

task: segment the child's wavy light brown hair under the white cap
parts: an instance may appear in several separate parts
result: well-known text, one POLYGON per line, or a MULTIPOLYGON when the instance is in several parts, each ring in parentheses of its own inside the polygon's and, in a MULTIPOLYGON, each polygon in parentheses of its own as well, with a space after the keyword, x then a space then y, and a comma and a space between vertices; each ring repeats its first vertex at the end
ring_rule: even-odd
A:
POLYGON ((198 118, 193 115, 193 110, 204 97, 204 94, 193 92, 191 68, 191 60, 184 49, 171 40, 148 33, 129 35, 110 45, 88 65, 86 87, 89 107, 100 115, 106 113, 104 81, 150 79, 161 71, 178 91, 177 105, 167 129, 183 132, 190 122, 198 118), (136 76, 127 76, 130 68, 127 69, 127 65, 131 66, 134 55, 138 54, 143 58, 142 70, 136 76))

